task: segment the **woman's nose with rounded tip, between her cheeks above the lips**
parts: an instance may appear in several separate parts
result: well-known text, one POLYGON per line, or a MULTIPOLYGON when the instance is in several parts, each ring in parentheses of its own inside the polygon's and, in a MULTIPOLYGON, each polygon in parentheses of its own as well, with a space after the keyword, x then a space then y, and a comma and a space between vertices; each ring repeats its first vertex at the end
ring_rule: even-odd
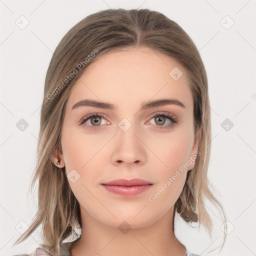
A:
POLYGON ((143 137, 135 129, 135 125, 131 125, 126 131, 118 128, 110 159, 114 165, 142 165, 146 161, 145 150, 143 137))

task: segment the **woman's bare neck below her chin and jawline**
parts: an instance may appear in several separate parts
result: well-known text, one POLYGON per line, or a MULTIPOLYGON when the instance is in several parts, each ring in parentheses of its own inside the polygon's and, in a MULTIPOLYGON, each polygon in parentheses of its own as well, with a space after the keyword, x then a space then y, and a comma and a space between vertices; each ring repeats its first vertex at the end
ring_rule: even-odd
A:
MULTIPOLYGON (((71 247, 72 256, 184 256, 186 248, 174 235, 173 207, 148 226, 122 229, 99 222, 81 207, 82 232, 71 247), (148 255, 149 255, 148 254, 148 255)), ((122 220, 120 220, 122 223, 122 220)))

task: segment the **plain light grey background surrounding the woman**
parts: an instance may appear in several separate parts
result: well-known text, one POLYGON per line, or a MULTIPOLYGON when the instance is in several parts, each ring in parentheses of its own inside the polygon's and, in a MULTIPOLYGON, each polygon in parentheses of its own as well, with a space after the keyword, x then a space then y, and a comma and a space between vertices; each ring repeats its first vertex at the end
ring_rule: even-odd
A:
POLYGON ((74 24, 109 7, 149 8, 167 15, 191 36, 207 71, 212 110, 208 172, 226 210, 228 234, 221 253, 207 254, 221 244, 223 231, 216 210, 206 203, 214 222, 212 239, 203 228, 189 227, 178 216, 176 236, 198 254, 256 255, 255 0, 0 0, 0 255, 28 253, 40 242, 35 232, 11 248, 36 212, 36 194, 34 201, 26 194, 35 166, 44 78, 52 52, 74 24), (29 21, 24 29, 15 23, 25 24, 21 15, 29 21), (228 28, 231 19, 234 24, 228 28), (21 118, 29 124, 23 131, 16 127, 21 118), (234 124, 228 130, 221 126, 226 118, 234 124))

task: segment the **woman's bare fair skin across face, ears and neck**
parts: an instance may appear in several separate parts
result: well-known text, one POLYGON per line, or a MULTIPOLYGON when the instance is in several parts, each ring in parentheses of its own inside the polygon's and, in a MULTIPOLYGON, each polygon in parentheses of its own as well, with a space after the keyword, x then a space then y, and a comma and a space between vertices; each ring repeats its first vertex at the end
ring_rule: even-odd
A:
POLYGON ((185 246, 173 231, 173 206, 195 161, 154 202, 148 198, 197 152, 199 133, 194 136, 193 99, 184 68, 175 59, 144 46, 101 55, 76 82, 61 132, 62 151, 56 149, 53 160, 60 159, 67 174, 75 169, 80 175, 74 183, 68 179, 82 219, 82 233, 72 246, 72 256, 183 256, 185 246), (173 67, 183 72, 178 80, 169 75, 173 67), (116 108, 79 106, 71 110, 85 98, 109 102, 116 108), (166 104, 139 111, 142 103, 162 98, 179 100, 185 107, 166 104), (153 117, 163 111, 178 122, 167 126, 172 123, 167 117, 153 117), (79 124, 90 113, 105 117, 79 124), (126 131, 118 127, 123 118, 131 124, 126 131), (89 129, 95 126, 97 129, 89 129), (153 185, 128 197, 100 185, 135 177, 153 185), (126 233, 118 228, 123 221, 130 226, 126 233))

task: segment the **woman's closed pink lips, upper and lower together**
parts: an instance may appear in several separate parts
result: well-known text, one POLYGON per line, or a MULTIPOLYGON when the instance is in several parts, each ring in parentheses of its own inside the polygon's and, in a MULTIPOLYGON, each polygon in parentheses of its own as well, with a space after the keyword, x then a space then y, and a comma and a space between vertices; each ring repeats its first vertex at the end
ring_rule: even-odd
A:
POLYGON ((123 195, 134 196, 148 189, 152 183, 139 178, 133 179, 115 179, 101 185, 108 191, 123 195))

